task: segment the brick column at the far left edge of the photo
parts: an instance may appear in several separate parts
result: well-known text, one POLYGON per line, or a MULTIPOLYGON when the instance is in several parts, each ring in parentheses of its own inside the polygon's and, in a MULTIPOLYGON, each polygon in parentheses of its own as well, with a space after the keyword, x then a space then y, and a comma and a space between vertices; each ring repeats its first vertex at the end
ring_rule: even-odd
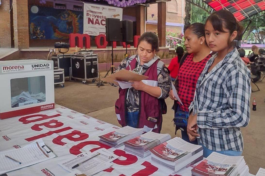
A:
POLYGON ((11 48, 10 0, 2 0, 0 6, 0 48, 11 48))

